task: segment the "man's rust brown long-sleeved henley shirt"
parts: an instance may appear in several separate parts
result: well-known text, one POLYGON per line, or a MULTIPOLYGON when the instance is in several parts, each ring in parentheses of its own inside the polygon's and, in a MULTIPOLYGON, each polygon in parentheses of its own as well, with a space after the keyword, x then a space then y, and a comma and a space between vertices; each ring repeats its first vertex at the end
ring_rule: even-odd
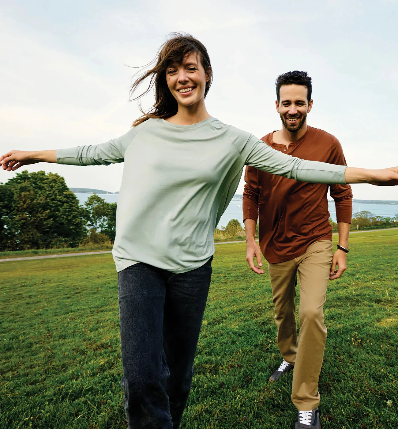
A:
MULTIPOLYGON (((285 145, 272 141, 269 133, 261 140, 272 148, 305 160, 347 165, 335 136, 313 127, 300 139, 285 145)), ((337 222, 351 223, 350 185, 303 183, 247 166, 243 192, 243 219, 259 220, 259 242, 269 263, 294 259, 319 240, 332 239, 327 201, 335 200, 337 222)))

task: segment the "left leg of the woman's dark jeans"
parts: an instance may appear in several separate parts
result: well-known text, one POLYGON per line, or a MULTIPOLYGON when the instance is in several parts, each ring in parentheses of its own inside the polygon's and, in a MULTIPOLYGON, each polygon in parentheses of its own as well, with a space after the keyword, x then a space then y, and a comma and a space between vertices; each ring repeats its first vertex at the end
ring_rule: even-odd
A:
POLYGON ((138 263, 119 272, 123 405, 129 429, 171 429, 162 360, 164 272, 138 263))

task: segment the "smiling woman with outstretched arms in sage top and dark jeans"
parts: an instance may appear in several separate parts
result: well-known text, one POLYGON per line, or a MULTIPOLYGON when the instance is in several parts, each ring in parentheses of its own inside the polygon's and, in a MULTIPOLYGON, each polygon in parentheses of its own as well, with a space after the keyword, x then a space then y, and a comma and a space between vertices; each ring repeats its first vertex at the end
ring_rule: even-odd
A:
POLYGON ((212 273, 213 233, 245 165, 304 182, 398 184, 383 170, 305 161, 272 149, 206 111, 212 82, 206 48, 173 34, 149 79, 155 103, 118 139, 57 151, 10 151, 7 171, 39 161, 124 162, 113 256, 119 274, 122 386, 129 428, 176 429, 212 273), (134 186, 133 184, 139 184, 134 186))

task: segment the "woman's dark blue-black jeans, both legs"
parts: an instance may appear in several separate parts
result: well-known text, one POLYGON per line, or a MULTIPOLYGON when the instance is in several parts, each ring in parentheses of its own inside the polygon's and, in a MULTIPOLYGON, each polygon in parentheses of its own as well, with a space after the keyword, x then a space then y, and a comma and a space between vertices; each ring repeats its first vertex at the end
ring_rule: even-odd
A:
POLYGON ((129 428, 178 428, 188 399, 212 257, 174 274, 144 263, 119 272, 123 405, 129 428))

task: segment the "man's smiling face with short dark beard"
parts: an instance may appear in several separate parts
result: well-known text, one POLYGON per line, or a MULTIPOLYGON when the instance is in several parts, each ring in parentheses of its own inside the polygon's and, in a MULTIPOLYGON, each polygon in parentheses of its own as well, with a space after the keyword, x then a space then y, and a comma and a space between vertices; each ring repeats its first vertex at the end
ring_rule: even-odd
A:
POLYGON ((279 103, 276 100, 276 110, 287 131, 296 133, 307 119, 311 111, 312 100, 308 103, 307 87, 304 85, 282 85, 279 90, 279 103))

